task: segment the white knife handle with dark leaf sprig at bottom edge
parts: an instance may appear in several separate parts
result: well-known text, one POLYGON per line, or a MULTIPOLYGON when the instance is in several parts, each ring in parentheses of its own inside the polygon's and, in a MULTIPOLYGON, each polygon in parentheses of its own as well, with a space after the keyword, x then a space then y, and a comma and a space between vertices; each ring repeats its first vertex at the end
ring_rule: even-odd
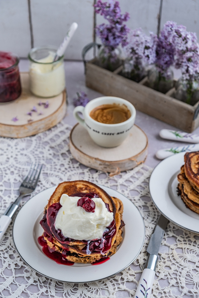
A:
POLYGON ((134 298, 149 298, 151 295, 155 271, 145 268, 142 272, 134 298))

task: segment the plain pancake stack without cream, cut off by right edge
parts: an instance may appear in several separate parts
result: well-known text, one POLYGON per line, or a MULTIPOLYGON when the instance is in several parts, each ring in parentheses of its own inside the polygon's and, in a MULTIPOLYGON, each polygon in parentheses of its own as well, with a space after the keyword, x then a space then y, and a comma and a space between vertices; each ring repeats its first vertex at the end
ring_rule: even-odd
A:
POLYGON ((178 191, 185 205, 199 214, 199 151, 187 152, 178 175, 178 191))

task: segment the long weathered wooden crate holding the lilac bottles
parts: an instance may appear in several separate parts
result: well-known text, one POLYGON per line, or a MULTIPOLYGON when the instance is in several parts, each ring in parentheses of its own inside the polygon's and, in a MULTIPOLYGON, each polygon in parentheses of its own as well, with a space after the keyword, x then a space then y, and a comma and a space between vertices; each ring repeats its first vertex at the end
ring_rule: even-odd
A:
POLYGON ((199 127, 199 103, 191 106, 172 97, 174 88, 166 94, 147 87, 147 77, 136 83, 120 75, 122 66, 114 72, 95 64, 86 63, 86 85, 104 95, 130 101, 134 107, 152 117, 183 131, 193 132, 199 127))

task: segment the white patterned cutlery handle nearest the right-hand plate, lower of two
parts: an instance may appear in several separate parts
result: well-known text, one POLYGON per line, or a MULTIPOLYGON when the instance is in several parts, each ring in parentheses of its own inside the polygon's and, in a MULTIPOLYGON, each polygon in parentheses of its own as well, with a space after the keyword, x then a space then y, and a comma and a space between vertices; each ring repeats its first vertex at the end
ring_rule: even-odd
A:
POLYGON ((156 152, 156 157, 158 159, 164 159, 164 158, 174 155, 176 153, 191 152, 191 151, 197 151, 197 150, 199 150, 199 144, 185 145, 185 146, 174 146, 172 148, 158 150, 156 152))

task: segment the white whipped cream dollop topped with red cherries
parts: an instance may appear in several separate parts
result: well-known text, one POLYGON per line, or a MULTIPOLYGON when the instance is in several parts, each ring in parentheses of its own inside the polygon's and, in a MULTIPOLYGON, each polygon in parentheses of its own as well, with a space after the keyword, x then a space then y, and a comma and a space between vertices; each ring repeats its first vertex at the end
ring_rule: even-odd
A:
POLYGON ((105 207, 100 198, 92 198, 96 204, 95 212, 87 212, 77 206, 80 197, 70 197, 63 194, 60 198, 60 208, 55 228, 61 229, 63 235, 76 240, 100 239, 106 227, 113 221, 113 213, 105 207))

